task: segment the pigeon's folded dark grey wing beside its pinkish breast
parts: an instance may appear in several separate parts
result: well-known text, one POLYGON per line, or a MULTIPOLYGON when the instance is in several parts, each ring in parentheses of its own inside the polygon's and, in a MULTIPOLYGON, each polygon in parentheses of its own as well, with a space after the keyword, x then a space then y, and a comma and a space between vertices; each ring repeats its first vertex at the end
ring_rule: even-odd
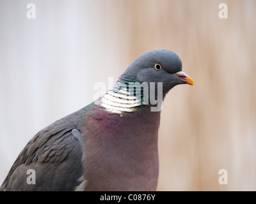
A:
POLYGON ((20 152, 1 191, 74 191, 83 181, 81 133, 57 121, 37 133, 20 152))

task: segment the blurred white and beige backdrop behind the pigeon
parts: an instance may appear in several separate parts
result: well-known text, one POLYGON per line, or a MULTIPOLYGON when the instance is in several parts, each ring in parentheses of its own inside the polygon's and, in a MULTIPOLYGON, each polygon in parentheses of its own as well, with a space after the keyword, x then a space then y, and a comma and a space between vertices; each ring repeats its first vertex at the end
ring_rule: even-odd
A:
POLYGON ((0 183, 33 135, 92 102, 93 84, 168 48, 195 87, 179 85, 164 101, 157 190, 255 191, 255 19, 253 0, 1 0, 0 183))

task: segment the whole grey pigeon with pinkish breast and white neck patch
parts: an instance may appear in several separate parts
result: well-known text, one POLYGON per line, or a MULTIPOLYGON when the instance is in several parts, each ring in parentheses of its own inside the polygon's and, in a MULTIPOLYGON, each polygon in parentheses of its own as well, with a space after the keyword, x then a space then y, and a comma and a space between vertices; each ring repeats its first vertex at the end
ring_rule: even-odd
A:
POLYGON ((140 55, 106 94, 39 131, 1 191, 156 191, 162 102, 194 85, 177 54, 140 55))

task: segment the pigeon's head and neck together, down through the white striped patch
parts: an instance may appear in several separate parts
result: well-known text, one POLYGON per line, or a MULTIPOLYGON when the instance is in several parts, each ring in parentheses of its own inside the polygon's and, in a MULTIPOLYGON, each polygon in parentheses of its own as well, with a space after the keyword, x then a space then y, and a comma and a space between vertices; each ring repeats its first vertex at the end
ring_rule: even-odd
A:
POLYGON ((182 71, 179 56, 170 50, 152 50, 132 62, 102 97, 101 106, 120 115, 135 112, 141 105, 159 112, 164 96, 178 84, 194 85, 193 79, 182 71))

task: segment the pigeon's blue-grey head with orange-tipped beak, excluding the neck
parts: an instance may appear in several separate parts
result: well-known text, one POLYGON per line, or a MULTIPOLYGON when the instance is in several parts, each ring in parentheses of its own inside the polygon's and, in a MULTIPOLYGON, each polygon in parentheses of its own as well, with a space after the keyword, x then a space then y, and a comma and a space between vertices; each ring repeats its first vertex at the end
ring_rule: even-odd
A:
POLYGON ((166 49, 157 49, 140 55, 125 70, 123 76, 136 82, 163 85, 163 96, 179 84, 194 85, 193 79, 182 71, 182 62, 177 54, 166 49))

